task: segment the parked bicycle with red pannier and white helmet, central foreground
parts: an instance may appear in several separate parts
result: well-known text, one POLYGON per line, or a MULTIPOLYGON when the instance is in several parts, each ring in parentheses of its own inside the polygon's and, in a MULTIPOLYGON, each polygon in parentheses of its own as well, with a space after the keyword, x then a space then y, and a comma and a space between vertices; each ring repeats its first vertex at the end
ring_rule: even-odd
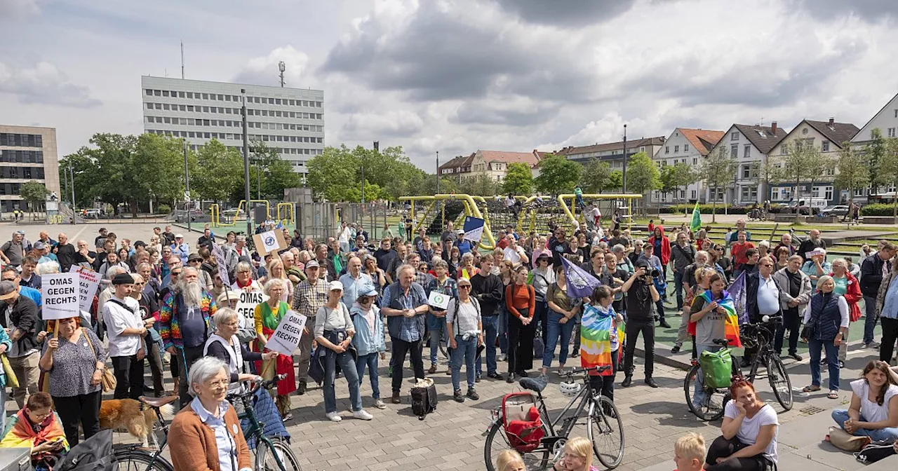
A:
MULTIPOLYGON (((601 373, 610 369, 610 366, 602 366, 568 371, 567 381, 573 382, 574 374, 589 371, 601 373)), ((544 418, 542 429, 545 435, 540 440, 539 447, 529 453, 522 453, 527 469, 546 469, 549 466, 550 458, 552 458, 552 462, 557 460, 574 426, 583 424, 579 422, 580 418, 585 418, 586 438, 592 441, 593 452, 596 458, 602 462, 603 466, 609 469, 618 467, 623 460, 625 439, 621 414, 618 412, 617 407, 614 406, 612 400, 599 395, 598 391, 592 390, 589 385, 589 375, 587 374, 583 380, 585 386, 580 388, 577 396, 571 398, 568 406, 565 406, 553 420, 542 397, 542 390, 546 388, 548 382, 545 377, 541 377, 541 379, 522 378, 520 382, 522 388, 536 393, 537 409, 540 411, 541 417, 544 418), (574 414, 565 417, 575 404, 577 404, 577 407, 574 414)), ((493 409, 492 420, 482 435, 486 437, 483 458, 487 464, 487 469, 496 471, 496 459, 499 452, 503 449, 513 449, 504 432, 501 407, 493 409)))

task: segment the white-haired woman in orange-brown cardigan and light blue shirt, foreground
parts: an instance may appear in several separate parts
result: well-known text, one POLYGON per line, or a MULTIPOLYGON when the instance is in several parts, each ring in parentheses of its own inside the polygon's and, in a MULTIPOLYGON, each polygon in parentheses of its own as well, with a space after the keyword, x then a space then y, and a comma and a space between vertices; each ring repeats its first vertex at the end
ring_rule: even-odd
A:
POLYGON ((240 419, 225 397, 230 384, 225 362, 204 357, 188 375, 193 400, 172 420, 169 446, 174 469, 251 470, 240 419))

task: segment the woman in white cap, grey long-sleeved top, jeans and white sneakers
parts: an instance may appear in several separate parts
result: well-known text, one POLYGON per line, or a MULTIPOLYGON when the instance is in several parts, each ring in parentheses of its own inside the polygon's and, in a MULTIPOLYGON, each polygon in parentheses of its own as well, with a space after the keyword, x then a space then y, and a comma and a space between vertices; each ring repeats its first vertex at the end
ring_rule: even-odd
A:
MULTIPOLYGON (((324 363, 324 412, 331 422, 342 420, 337 412, 337 397, 334 381, 337 380, 337 364, 349 383, 349 401, 352 403, 352 416, 360 420, 371 420, 371 414, 362 408, 362 397, 358 394, 358 371, 356 357, 358 352, 352 346, 352 338, 356 336, 356 326, 349 317, 349 310, 340 301, 343 296, 343 283, 328 283, 328 301, 315 314, 315 341, 318 349, 315 357, 323 356, 324 363), (323 354, 321 351, 323 349, 323 354)), ((379 322, 379 320, 378 320, 379 322)), ((418 350, 420 352, 420 350, 418 350)))

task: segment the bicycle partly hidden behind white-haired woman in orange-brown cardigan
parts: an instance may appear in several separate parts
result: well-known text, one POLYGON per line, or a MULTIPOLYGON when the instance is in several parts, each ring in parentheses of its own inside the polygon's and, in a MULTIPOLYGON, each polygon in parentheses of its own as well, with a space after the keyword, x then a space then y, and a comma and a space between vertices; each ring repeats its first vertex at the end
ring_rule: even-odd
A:
MULTIPOLYGON (((229 394, 228 401, 234 404, 236 401, 243 406, 243 412, 238 414, 241 419, 249 419, 249 425, 243 429, 243 436, 247 440, 256 439, 255 449, 255 467, 253 469, 271 470, 271 471, 302 471, 299 461, 296 459, 293 451, 287 445, 285 440, 280 438, 271 439, 264 435, 264 424, 256 419, 254 409, 252 407, 252 397, 260 388, 269 389, 277 385, 277 381, 284 379, 284 375, 278 375, 268 381, 260 381, 253 385, 246 393, 229 394), (274 457, 272 466, 271 457, 274 457), (288 465, 286 466, 285 465, 288 465)), ((140 402, 145 406, 152 408, 156 414, 158 429, 163 432, 163 440, 161 443, 153 436, 156 445, 151 453, 145 449, 141 449, 139 444, 115 444, 112 446, 112 455, 117 463, 119 470, 128 471, 174 471, 172 462, 162 456, 165 445, 168 443, 169 424, 165 423, 163 414, 160 411, 162 406, 171 404, 178 400, 177 396, 168 397, 140 397, 140 402)))

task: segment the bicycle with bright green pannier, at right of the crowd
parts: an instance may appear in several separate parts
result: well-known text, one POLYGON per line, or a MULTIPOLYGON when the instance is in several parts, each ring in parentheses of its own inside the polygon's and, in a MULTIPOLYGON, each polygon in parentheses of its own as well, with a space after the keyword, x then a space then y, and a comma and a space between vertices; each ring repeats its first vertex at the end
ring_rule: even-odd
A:
MULTIPOLYGON (((792 408, 794 399, 792 380, 789 379, 786 367, 782 360, 779 359, 779 354, 773 351, 768 336, 762 332, 762 329, 767 330, 765 324, 773 321, 770 326, 775 327, 776 323, 781 320, 781 316, 764 316, 761 323, 746 324, 741 327, 743 330, 740 333, 740 339, 746 346, 757 345, 757 353, 754 354, 747 376, 743 376, 738 359, 733 360, 731 383, 739 379, 745 379, 753 383, 754 379, 758 377, 758 370, 763 366, 767 370, 767 379, 770 382, 770 388, 773 389, 773 395, 777 398, 779 405, 788 411, 792 408)), ((713 342, 724 348, 729 346, 729 340, 727 339, 716 338, 713 342)), ((699 375, 700 364, 698 359, 695 358, 692 359, 691 364, 692 367, 686 373, 686 378, 683 379, 686 404, 689 406, 690 412, 701 420, 706 422, 718 420, 724 414, 726 403, 732 398, 730 397, 729 388, 710 388, 705 385, 704 400, 700 405, 692 404, 692 397, 695 397, 695 384, 699 375)))

